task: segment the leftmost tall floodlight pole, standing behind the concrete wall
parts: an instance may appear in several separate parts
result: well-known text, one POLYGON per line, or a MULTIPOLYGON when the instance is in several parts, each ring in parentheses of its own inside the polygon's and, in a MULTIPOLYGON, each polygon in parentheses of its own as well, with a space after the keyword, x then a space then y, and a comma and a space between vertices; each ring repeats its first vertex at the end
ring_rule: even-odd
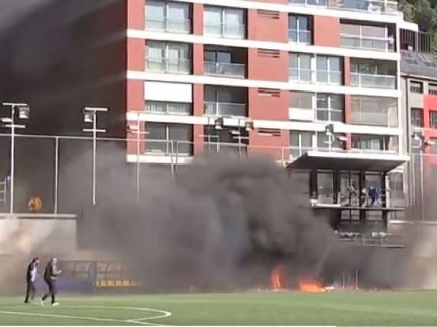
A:
POLYGON ((11 129, 11 180, 10 180, 10 204, 9 213, 14 212, 14 192, 15 192, 15 130, 24 129, 25 125, 15 124, 15 112, 18 111, 19 119, 29 119, 30 108, 27 103, 3 102, 3 106, 11 108, 10 117, 0 118, 0 122, 5 123, 2 127, 11 129))

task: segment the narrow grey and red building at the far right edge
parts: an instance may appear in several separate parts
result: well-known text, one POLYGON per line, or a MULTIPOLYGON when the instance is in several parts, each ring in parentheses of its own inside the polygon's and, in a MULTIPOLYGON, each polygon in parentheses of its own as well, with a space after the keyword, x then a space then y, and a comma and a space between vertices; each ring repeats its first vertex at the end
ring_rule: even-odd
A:
POLYGON ((429 52, 402 52, 401 74, 405 142, 411 160, 405 184, 412 215, 434 220, 437 164, 437 57, 429 52))

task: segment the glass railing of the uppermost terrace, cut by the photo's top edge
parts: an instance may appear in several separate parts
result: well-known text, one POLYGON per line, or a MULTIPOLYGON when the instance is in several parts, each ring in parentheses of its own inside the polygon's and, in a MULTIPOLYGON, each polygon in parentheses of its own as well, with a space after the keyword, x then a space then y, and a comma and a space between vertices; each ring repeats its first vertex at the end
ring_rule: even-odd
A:
POLYGON ((289 3, 301 6, 323 6, 340 10, 397 14, 397 1, 393 0, 289 0, 289 3))

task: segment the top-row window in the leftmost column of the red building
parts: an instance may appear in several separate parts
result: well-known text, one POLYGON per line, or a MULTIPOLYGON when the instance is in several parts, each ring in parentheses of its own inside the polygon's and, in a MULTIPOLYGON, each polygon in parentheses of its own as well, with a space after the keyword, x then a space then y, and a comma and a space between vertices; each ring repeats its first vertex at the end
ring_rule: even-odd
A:
POLYGON ((145 5, 145 29, 190 33, 191 7, 180 2, 148 0, 145 5))

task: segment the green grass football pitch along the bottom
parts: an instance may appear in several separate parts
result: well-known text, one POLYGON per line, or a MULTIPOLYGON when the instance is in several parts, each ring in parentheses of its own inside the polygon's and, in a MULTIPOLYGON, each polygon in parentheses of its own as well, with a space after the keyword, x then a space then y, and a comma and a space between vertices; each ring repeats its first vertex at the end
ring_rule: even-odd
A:
POLYGON ((0 297, 0 325, 437 325, 437 292, 0 297))

